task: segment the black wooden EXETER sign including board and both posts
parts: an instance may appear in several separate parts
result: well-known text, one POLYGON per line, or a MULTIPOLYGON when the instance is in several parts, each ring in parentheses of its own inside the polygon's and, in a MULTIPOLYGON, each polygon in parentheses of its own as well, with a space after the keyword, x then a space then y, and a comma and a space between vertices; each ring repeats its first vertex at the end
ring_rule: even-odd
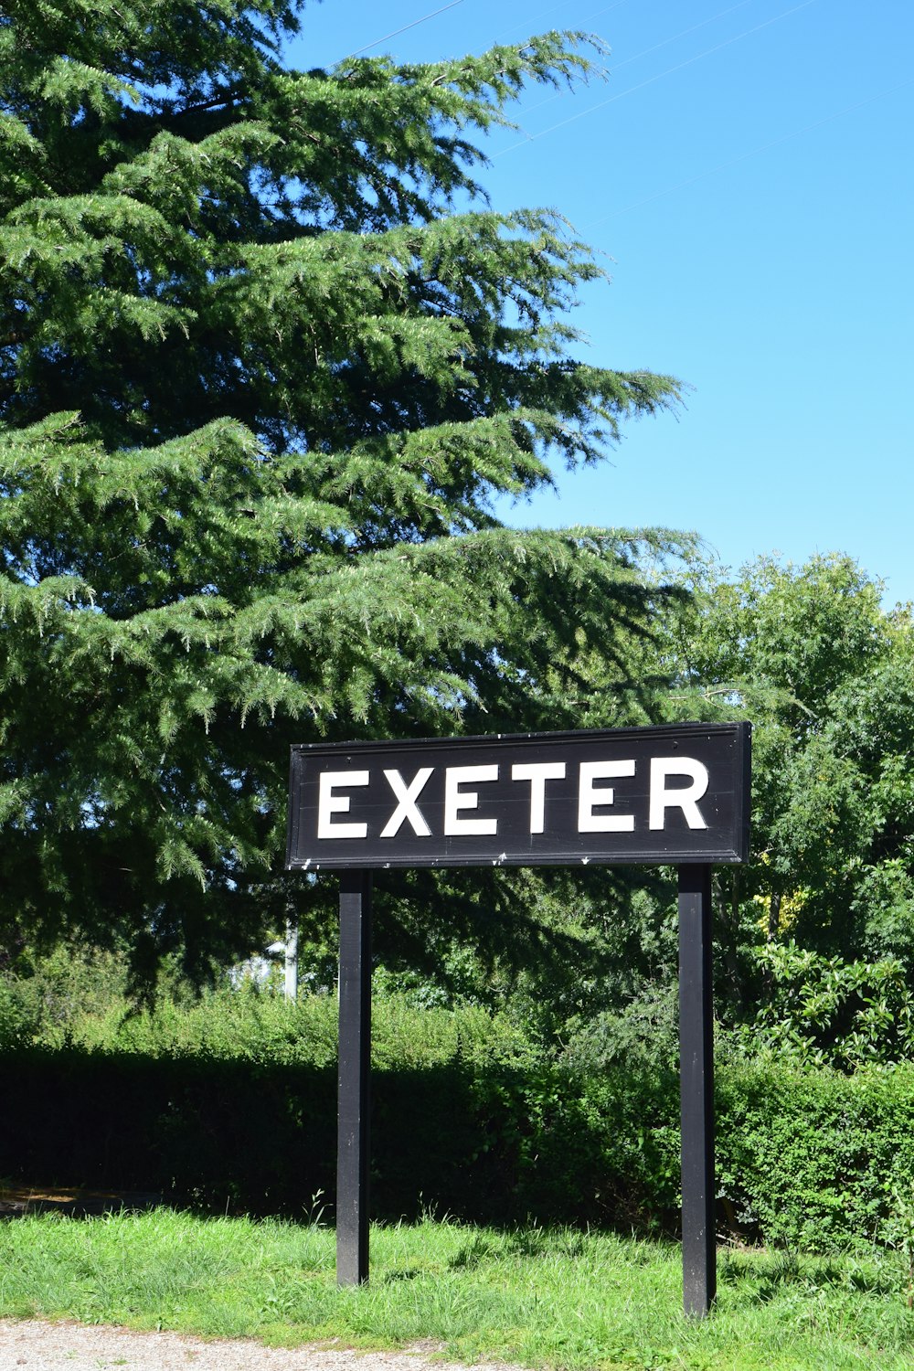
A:
POLYGON ((680 869, 685 1312, 714 1300, 711 866, 748 857, 750 725, 292 749, 286 866, 340 871, 337 1281, 367 1281, 371 872, 680 869))

